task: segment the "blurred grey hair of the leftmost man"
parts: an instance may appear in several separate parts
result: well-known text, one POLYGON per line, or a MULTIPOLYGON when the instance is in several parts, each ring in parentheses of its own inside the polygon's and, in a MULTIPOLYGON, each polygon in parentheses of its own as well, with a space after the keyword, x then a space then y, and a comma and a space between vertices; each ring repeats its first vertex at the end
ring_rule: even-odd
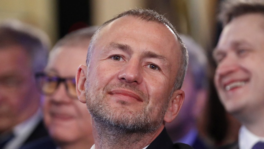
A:
POLYGON ((25 49, 33 72, 40 72, 47 65, 50 40, 42 30, 18 20, 6 20, 0 24, 0 48, 11 45, 25 49))

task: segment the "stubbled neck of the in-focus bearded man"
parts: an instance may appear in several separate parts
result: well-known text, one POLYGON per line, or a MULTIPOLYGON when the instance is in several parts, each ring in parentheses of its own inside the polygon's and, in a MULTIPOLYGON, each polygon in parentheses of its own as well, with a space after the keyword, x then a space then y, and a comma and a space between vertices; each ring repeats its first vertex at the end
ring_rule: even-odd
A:
POLYGON ((96 149, 107 148, 144 148, 149 145, 163 130, 164 125, 153 132, 128 131, 123 128, 104 126, 92 122, 96 149))

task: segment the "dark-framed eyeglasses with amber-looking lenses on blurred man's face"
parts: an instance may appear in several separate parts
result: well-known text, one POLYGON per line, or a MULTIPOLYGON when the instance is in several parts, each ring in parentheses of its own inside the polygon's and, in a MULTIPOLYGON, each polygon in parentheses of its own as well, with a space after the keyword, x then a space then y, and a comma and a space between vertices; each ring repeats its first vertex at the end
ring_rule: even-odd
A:
POLYGON ((44 95, 52 95, 58 89, 60 83, 64 83, 67 95, 71 98, 77 98, 75 78, 61 78, 58 76, 49 76, 45 73, 36 73, 38 87, 44 95))

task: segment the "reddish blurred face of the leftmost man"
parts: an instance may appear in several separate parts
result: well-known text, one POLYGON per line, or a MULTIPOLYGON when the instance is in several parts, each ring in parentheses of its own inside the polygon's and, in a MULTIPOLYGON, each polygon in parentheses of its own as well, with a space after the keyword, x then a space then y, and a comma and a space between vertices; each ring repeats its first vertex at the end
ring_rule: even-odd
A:
POLYGON ((0 133, 32 116, 39 102, 40 93, 26 51, 18 45, 0 48, 0 133))

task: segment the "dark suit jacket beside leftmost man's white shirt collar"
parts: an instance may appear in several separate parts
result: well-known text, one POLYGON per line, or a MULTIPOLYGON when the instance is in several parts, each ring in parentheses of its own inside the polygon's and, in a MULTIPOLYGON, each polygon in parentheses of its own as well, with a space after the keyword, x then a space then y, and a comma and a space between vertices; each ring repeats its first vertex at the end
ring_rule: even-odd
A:
POLYGON ((44 126, 43 120, 41 120, 35 130, 32 132, 32 134, 29 135, 28 139, 26 139, 26 141, 23 143, 21 148, 27 146, 28 144, 34 143, 35 141, 38 142, 43 138, 49 138, 49 134, 44 126))

